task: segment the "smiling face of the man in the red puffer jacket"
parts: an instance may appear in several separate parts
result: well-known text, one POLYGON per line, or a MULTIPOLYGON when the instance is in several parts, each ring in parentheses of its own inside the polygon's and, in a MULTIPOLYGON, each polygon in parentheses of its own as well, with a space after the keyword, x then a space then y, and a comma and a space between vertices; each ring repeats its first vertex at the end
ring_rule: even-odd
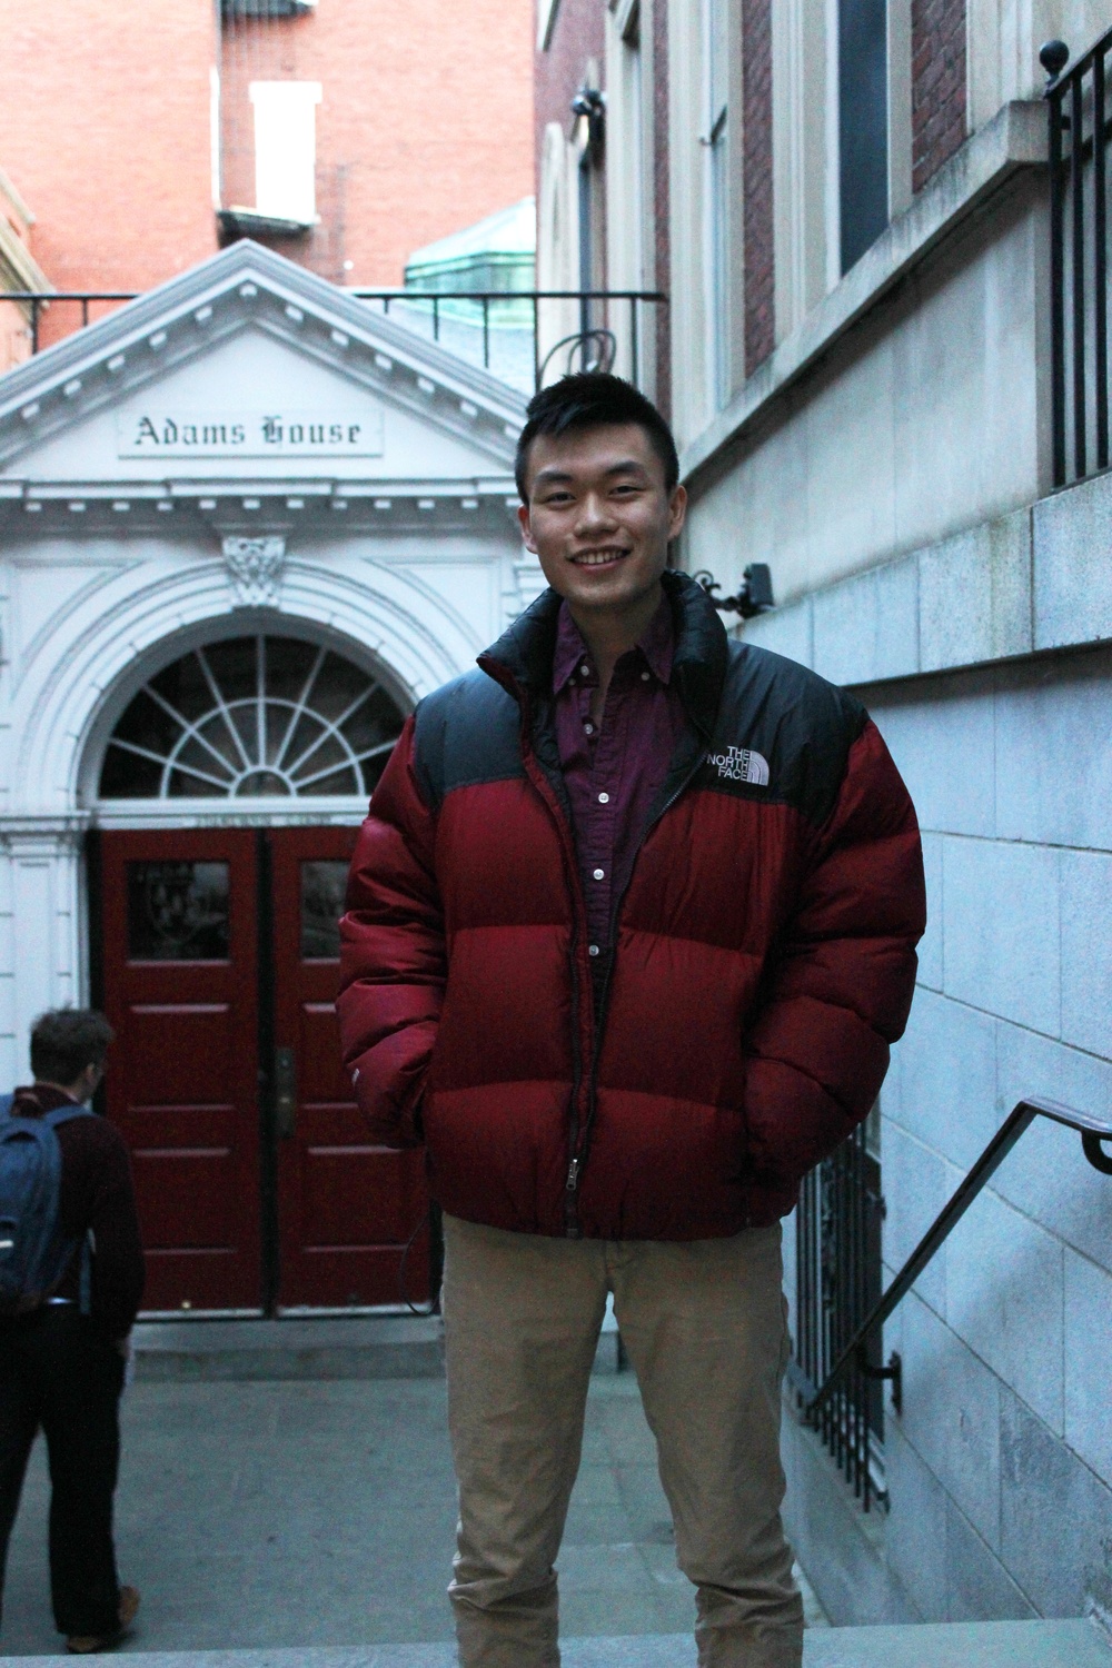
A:
POLYGON ((639 424, 540 434, 528 449, 518 517, 543 575, 579 619, 652 609, 687 494, 665 487, 664 464, 639 424))

